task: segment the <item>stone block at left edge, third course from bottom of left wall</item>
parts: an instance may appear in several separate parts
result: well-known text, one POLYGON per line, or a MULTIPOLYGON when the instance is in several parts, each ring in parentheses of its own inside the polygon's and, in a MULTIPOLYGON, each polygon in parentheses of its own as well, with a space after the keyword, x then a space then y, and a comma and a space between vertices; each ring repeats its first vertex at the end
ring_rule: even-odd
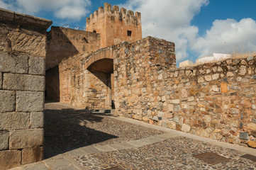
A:
POLYGON ((26 129, 29 128, 29 113, 1 113, 0 114, 0 129, 26 129))

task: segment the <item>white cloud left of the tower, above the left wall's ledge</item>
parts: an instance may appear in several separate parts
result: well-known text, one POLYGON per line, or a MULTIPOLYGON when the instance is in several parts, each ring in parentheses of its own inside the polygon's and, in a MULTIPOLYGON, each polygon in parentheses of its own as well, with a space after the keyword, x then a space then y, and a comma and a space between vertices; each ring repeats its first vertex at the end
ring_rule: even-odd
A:
POLYGON ((57 18, 73 19, 79 21, 87 16, 91 5, 90 0, 0 0, 2 8, 28 14, 40 11, 52 11, 57 18))

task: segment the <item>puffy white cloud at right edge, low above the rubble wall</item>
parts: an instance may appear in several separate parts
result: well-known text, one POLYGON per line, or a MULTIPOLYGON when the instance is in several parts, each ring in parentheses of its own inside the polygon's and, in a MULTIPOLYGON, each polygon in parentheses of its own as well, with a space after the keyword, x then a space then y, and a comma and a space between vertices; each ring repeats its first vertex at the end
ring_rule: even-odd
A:
POLYGON ((191 43, 199 57, 212 55, 213 52, 232 53, 256 49, 256 23, 252 18, 241 21, 234 19, 216 20, 204 37, 191 43))

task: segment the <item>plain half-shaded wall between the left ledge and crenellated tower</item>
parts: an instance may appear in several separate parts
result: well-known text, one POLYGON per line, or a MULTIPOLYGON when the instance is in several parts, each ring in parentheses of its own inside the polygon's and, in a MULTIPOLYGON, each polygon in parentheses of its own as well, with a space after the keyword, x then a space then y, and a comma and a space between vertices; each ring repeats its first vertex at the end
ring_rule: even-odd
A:
POLYGON ((48 33, 46 70, 69 57, 99 50, 100 40, 98 33, 52 26, 48 33))

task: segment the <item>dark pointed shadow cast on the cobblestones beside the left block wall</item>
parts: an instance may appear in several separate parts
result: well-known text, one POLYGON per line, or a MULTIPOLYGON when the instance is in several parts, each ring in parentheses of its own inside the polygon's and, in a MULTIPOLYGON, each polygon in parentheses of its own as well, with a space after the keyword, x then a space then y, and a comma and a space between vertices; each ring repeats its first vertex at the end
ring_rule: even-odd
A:
POLYGON ((87 122, 99 123, 103 119, 88 110, 45 109, 45 159, 79 147, 118 138, 87 128, 87 122))

